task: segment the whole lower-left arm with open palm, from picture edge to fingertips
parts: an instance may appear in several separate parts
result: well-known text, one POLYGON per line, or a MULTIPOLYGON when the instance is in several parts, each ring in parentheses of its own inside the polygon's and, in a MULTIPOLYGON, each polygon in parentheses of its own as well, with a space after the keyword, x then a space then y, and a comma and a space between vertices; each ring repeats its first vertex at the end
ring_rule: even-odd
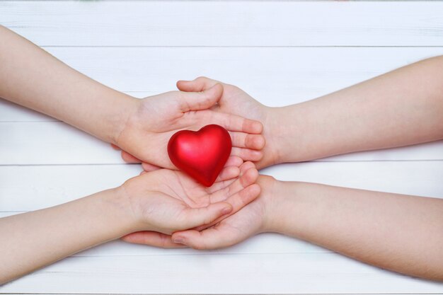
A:
POLYGON ((258 171, 248 169, 236 178, 238 170, 226 168, 212 187, 203 187, 179 171, 155 170, 73 202, 4 217, 0 284, 132 232, 149 234, 153 245, 183 247, 166 235, 209 226, 258 196, 260 188, 254 184, 258 171))

